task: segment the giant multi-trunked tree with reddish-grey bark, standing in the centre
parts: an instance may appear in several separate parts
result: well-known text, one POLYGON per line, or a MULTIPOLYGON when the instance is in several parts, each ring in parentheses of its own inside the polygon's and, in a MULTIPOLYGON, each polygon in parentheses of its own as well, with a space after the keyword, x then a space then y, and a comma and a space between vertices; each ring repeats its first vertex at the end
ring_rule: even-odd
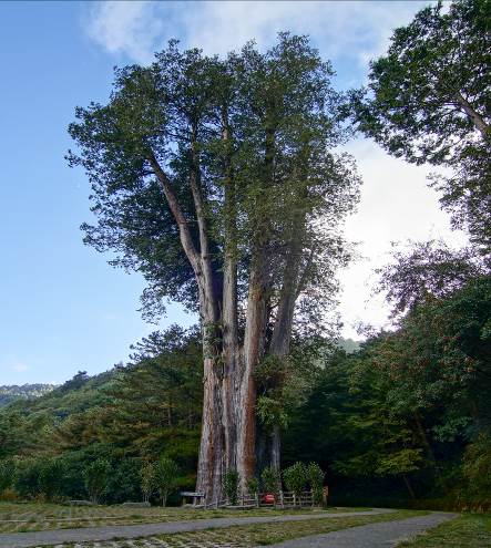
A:
POLYGON ((333 153, 347 135, 331 75, 301 37, 226 60, 171 42, 152 65, 116 70, 109 102, 70 126, 70 163, 93 188, 85 242, 143 273, 147 316, 165 298, 200 312, 208 500, 226 469, 255 473, 256 369, 286 359, 295 325, 321 323, 347 257, 359 180, 333 153))

